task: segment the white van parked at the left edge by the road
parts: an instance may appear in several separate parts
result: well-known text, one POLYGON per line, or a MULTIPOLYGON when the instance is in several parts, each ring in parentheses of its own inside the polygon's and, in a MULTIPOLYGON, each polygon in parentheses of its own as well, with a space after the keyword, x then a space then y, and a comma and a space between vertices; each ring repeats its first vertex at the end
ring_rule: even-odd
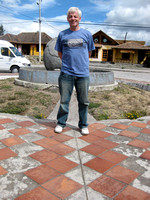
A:
POLYGON ((0 71, 9 70, 16 73, 21 67, 30 66, 30 61, 14 45, 8 41, 0 40, 0 71))

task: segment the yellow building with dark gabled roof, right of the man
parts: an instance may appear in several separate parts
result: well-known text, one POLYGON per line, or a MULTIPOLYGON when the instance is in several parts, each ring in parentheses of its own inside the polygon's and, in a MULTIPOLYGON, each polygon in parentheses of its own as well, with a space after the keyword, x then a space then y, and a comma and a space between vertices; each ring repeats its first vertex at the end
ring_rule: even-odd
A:
POLYGON ((144 41, 114 40, 103 31, 93 35, 95 50, 90 61, 143 64, 150 47, 144 41))

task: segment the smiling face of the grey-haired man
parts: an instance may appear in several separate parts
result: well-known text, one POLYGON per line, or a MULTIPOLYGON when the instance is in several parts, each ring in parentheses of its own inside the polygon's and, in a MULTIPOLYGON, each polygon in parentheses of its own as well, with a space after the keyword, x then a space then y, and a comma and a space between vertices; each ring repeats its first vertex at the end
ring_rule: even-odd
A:
POLYGON ((70 24, 70 27, 77 27, 79 26, 79 22, 81 21, 81 17, 79 17, 77 12, 70 12, 67 20, 70 24))

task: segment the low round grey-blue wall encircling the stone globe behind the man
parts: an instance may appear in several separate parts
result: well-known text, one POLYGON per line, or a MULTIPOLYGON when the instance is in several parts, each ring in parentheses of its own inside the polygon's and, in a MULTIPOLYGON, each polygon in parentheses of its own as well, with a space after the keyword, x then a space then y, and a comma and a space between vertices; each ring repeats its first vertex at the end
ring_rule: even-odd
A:
MULTIPOLYGON (((22 68, 15 84, 25 87, 45 89, 58 86, 60 70, 49 71, 45 68, 22 68)), ((94 91, 112 90, 118 86, 114 80, 114 73, 93 69, 90 71, 90 89, 94 91)))

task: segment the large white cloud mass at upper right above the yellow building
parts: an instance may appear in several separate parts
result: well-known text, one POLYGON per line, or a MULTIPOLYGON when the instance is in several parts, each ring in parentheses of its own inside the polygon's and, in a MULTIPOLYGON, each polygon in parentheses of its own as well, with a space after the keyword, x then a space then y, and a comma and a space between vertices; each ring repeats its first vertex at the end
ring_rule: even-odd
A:
POLYGON ((103 9, 107 11, 105 23, 118 25, 118 27, 102 27, 101 30, 114 39, 124 39, 127 32, 128 40, 142 40, 146 41, 146 45, 150 44, 150 0, 91 0, 92 2, 100 11, 103 9))

